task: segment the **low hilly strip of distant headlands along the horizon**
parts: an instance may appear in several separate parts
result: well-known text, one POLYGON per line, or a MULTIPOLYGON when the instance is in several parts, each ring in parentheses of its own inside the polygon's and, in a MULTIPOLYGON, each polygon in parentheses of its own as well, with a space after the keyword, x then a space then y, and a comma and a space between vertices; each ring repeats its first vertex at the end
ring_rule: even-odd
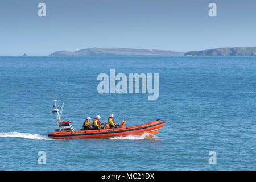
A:
POLYGON ((256 47, 214 48, 204 51, 175 52, 157 49, 86 48, 56 51, 49 56, 256 56, 256 47))

